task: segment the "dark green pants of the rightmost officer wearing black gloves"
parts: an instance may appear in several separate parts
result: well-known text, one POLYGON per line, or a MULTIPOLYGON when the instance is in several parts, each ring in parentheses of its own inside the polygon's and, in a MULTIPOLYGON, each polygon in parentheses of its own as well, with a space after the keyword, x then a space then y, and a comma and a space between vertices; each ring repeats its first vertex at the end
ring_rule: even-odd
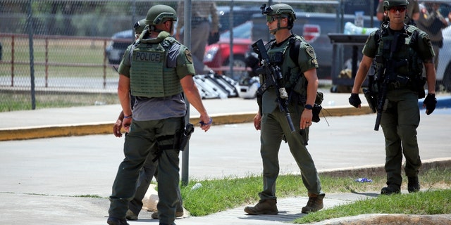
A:
POLYGON ((387 185, 401 186, 402 155, 406 158, 406 176, 416 176, 421 167, 416 128, 420 122, 418 95, 409 89, 388 91, 388 108, 382 113, 385 136, 385 172, 387 185))

